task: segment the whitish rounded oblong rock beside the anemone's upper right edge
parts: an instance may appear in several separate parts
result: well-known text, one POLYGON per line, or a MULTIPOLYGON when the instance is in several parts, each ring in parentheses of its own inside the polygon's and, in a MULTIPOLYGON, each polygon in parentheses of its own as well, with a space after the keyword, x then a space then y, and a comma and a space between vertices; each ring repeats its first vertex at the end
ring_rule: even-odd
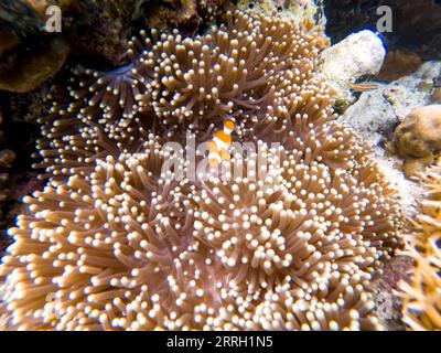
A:
POLYGON ((379 73, 386 56, 383 41, 370 30, 351 34, 320 56, 319 71, 336 92, 337 99, 354 101, 349 84, 379 73))

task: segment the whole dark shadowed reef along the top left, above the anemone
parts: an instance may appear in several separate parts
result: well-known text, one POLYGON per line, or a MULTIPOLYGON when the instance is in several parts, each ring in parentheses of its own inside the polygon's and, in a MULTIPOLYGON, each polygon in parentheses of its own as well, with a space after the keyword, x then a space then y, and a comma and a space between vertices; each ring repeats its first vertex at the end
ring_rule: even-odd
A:
POLYGON ((186 28, 189 33, 195 33, 203 21, 216 18, 224 3, 223 0, 176 0, 147 7, 148 2, 3 1, 0 4, 3 20, 0 24, 0 89, 23 93, 37 88, 60 72, 71 53, 93 65, 103 65, 103 61, 108 66, 121 65, 127 61, 123 53, 135 23, 161 30, 186 28), (61 33, 45 30, 46 9, 51 4, 61 9, 61 33))

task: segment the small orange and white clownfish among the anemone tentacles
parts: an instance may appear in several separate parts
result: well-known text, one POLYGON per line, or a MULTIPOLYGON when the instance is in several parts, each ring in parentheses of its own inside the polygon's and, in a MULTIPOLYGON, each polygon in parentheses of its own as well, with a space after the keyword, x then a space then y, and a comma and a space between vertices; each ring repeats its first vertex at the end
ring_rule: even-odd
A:
POLYGON ((232 146, 232 132, 235 129, 233 120, 228 119, 224 122, 224 130, 217 130, 214 133, 213 140, 208 142, 208 164, 217 167, 223 160, 229 160, 228 149, 232 146))

